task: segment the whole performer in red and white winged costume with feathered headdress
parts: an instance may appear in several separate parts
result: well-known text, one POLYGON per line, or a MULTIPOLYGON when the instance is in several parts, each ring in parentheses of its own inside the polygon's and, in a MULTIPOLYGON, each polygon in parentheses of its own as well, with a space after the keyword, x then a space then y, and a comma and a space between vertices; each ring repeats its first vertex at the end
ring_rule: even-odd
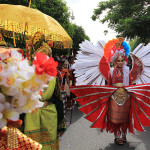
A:
POLYGON ((149 44, 145 47, 139 45, 130 55, 134 60, 131 71, 126 66, 130 46, 122 37, 106 44, 99 41, 97 46, 85 41, 80 47, 74 65, 80 86, 72 87, 71 91, 82 105, 79 109, 86 114, 85 118, 93 122, 91 127, 106 128, 114 133, 115 143, 123 145, 127 129, 130 133, 134 133, 134 129, 143 132, 143 127, 150 126, 150 76, 147 76, 148 70, 143 65, 145 58, 140 60, 137 53, 140 51, 141 57, 147 55, 147 58, 149 54, 145 51, 150 51, 149 44), (110 62, 114 68, 110 68, 110 62), (105 84, 105 79, 108 85, 99 86, 105 84), (140 86, 132 85, 140 83, 139 80, 142 81, 140 86))

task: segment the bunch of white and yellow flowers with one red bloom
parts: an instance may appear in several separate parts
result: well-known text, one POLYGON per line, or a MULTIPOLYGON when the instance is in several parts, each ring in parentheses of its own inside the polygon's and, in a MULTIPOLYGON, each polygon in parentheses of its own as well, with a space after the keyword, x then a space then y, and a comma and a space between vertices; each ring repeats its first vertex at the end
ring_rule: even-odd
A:
POLYGON ((30 66, 18 51, 0 51, 0 129, 21 113, 43 106, 41 92, 56 76, 57 65, 43 53, 37 53, 30 66))

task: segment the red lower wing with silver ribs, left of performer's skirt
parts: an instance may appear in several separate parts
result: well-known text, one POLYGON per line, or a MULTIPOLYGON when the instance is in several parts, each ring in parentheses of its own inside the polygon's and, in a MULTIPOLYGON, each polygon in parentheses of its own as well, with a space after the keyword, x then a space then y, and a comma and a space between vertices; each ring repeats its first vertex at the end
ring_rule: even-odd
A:
POLYGON ((108 112, 108 102, 117 88, 109 86, 74 86, 71 87, 71 92, 74 93, 81 104, 79 108, 85 118, 92 122, 92 128, 106 128, 106 115, 108 112))

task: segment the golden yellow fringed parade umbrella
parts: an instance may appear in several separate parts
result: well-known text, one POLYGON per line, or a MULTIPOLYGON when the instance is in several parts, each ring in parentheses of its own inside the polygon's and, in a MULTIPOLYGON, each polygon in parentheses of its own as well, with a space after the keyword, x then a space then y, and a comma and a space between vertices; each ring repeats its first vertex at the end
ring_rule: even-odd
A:
POLYGON ((32 37, 40 31, 54 46, 61 43, 62 48, 72 47, 72 39, 55 19, 21 5, 0 4, 0 30, 6 37, 13 37, 14 33, 32 37))

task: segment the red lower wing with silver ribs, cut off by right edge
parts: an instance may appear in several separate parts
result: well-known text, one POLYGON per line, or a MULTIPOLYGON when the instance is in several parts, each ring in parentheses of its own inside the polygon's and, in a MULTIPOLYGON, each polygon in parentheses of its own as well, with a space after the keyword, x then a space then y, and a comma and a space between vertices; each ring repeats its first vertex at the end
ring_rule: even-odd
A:
POLYGON ((131 95, 130 132, 134 128, 144 131, 143 127, 150 126, 150 84, 140 84, 126 87, 131 95))

